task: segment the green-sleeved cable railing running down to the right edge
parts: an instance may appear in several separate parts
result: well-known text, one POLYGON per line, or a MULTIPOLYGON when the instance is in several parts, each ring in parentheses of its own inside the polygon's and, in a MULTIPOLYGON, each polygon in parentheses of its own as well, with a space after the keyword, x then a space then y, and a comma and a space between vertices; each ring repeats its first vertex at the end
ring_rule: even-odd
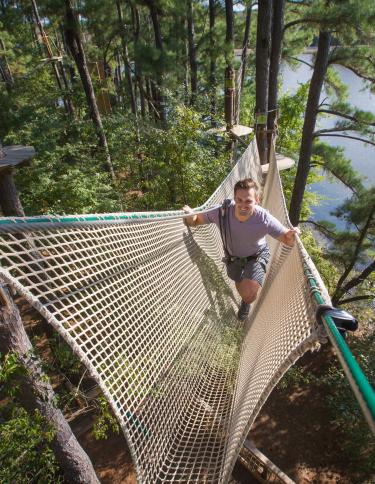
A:
MULTIPOLYGON (((317 304, 325 304, 315 277, 307 265, 305 265, 305 274, 315 302, 317 304)), ((354 358, 343 336, 337 329, 333 319, 329 315, 323 314, 322 320, 327 335, 337 351, 337 357, 349 380, 354 395, 357 398, 372 432, 375 434, 375 391, 354 358)))

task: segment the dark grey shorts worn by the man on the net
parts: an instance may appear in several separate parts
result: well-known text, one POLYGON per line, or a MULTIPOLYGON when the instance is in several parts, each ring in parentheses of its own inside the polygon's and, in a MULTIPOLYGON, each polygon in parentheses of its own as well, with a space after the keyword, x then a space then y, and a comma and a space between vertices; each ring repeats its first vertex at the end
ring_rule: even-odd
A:
POLYGON ((263 249, 256 259, 250 259, 247 262, 235 259, 233 262, 227 263, 228 277, 236 282, 250 279, 262 286, 269 259, 270 250, 268 247, 263 249))

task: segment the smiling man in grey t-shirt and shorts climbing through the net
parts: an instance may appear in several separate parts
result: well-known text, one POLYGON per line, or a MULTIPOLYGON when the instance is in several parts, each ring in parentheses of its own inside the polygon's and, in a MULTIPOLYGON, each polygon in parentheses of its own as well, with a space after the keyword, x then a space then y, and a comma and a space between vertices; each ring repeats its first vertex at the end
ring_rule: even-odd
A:
MULTIPOLYGON (((300 231, 284 227, 259 205, 259 187, 251 178, 235 184, 234 199, 228 202, 227 208, 214 207, 207 213, 186 217, 185 223, 192 227, 215 223, 220 228, 228 277, 235 281, 242 298, 237 317, 243 321, 257 298, 270 258, 265 236, 292 247, 300 231)), ((191 212, 188 205, 183 210, 191 212)))

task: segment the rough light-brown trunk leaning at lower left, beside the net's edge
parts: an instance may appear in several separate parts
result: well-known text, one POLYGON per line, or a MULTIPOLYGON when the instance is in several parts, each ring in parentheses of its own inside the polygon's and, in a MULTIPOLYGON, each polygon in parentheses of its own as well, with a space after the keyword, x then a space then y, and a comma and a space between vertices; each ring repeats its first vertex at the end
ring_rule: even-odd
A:
POLYGON ((18 377, 18 398, 29 411, 38 410, 55 430, 51 447, 64 472, 66 482, 98 483, 92 463, 79 445, 62 412, 56 408, 56 395, 23 327, 19 312, 0 278, 0 352, 14 352, 26 372, 18 377))

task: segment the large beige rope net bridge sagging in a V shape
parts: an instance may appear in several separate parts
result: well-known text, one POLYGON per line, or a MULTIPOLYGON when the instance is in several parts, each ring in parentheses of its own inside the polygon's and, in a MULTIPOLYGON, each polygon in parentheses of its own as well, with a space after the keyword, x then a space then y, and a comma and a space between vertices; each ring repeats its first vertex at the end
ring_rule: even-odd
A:
MULTIPOLYGON (((254 142, 199 210, 244 177, 262 182, 254 142)), ((288 224, 275 162, 263 205, 288 224)), ((139 482, 227 482, 273 387, 319 345, 304 265, 329 303, 319 275, 299 241, 269 244, 244 326, 213 225, 187 228, 181 211, 0 219, 0 274, 100 385, 139 482)))

